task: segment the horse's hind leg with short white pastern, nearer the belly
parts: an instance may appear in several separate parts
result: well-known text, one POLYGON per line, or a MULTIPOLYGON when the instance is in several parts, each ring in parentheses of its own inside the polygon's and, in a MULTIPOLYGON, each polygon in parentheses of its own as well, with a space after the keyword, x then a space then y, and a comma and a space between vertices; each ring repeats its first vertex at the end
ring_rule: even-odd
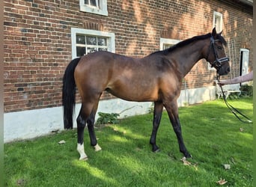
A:
POLYGON ((98 103, 96 105, 94 105, 94 108, 91 111, 91 114, 87 120, 91 146, 94 147, 95 151, 101 150, 101 147, 99 146, 99 144, 97 144, 97 139, 96 139, 95 132, 94 132, 94 121, 95 121, 95 114, 97 111, 97 106, 98 106, 98 103))

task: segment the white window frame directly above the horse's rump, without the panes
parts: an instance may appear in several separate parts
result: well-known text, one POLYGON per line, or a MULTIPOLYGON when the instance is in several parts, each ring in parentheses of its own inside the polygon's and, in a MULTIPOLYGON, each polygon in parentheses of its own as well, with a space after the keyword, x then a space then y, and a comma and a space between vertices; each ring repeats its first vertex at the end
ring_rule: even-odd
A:
POLYGON ((84 34, 86 36, 107 37, 108 52, 115 52, 115 34, 105 31, 95 31, 83 28, 71 28, 71 44, 72 44, 72 59, 76 56, 76 34, 84 34))

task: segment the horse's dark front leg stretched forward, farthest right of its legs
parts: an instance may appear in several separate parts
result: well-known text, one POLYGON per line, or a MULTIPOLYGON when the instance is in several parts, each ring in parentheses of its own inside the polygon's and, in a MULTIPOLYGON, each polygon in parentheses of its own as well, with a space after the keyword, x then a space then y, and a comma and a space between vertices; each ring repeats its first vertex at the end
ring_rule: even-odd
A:
POLYGON ((179 143, 180 152, 183 153, 183 155, 186 158, 192 157, 189 152, 186 150, 185 144, 183 142, 182 132, 181 132, 181 126, 180 126, 180 119, 178 115, 178 107, 177 107, 177 101, 170 102, 165 105, 166 111, 168 112, 168 117, 171 121, 171 125, 173 126, 174 132, 177 135, 177 141, 179 143))

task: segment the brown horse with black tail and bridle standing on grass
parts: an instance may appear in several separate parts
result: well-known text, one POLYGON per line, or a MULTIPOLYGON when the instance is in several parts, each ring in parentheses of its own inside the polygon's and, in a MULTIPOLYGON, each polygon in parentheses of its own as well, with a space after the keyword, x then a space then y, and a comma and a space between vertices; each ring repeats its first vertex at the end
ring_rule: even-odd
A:
POLYGON ((70 62, 63 79, 64 128, 73 128, 73 108, 76 87, 82 98, 77 117, 77 150, 79 159, 88 159, 84 150, 84 129, 88 125, 91 146, 101 150, 94 133, 94 118, 103 91, 121 99, 137 102, 154 102, 153 131, 150 137, 153 152, 156 133, 162 116, 162 108, 168 112, 180 152, 191 157, 183 143, 177 98, 182 79, 192 67, 205 58, 219 75, 228 74, 229 59, 222 45, 226 45, 221 33, 212 33, 183 40, 163 51, 153 52, 144 58, 130 58, 111 52, 94 52, 70 62))

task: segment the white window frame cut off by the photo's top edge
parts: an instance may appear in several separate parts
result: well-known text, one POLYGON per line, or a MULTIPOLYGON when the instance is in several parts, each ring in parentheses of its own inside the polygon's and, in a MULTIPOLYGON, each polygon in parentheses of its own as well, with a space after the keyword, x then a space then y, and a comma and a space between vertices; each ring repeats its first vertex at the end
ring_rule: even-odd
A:
POLYGON ((98 0, 96 0, 97 6, 91 6, 89 4, 85 4, 84 0, 79 0, 79 10, 82 12, 88 13, 96 13, 103 16, 108 16, 108 7, 107 0, 100 0, 100 4, 98 4, 98 0))

